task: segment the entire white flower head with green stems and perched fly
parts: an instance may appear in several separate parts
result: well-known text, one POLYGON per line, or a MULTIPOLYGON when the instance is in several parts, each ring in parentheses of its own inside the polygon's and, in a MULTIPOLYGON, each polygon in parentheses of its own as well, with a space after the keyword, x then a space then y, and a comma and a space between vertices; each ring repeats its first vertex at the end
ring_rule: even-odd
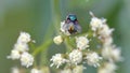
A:
MULTIPOLYGON (((113 42, 113 28, 109 28, 105 18, 99 18, 90 12, 92 16, 90 28, 87 32, 81 33, 81 27, 75 14, 69 14, 61 23, 60 34, 54 36, 53 42, 56 45, 64 43, 67 48, 66 53, 57 53, 50 59, 50 67, 55 65, 60 73, 82 73, 83 64, 98 68, 98 73, 115 73, 117 70, 116 62, 122 61, 121 50, 113 42), (93 43, 94 42, 94 43, 93 43), (99 47, 96 47, 99 46, 99 47)), ((34 63, 34 56, 44 47, 34 49, 32 55, 29 53, 29 43, 34 42, 30 34, 21 32, 17 42, 14 44, 8 59, 20 60, 21 64, 29 68, 34 63)), ((46 61, 41 61, 46 63, 46 61)), ((41 63, 40 62, 40 63, 41 63)), ((12 73, 20 73, 18 68, 13 68, 12 73)), ((57 71, 58 72, 58 71, 57 71)), ((30 73, 50 73, 49 68, 36 65, 30 73)))

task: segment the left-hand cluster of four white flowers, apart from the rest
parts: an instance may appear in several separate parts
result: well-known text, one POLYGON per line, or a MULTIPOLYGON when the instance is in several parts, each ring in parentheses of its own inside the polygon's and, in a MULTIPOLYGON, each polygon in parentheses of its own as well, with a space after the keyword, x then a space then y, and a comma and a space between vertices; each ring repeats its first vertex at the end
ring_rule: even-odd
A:
POLYGON ((11 55, 8 56, 8 59, 20 59, 22 65, 26 68, 32 65, 34 57, 28 53, 28 43, 30 40, 29 33, 21 32, 14 48, 11 50, 11 55))

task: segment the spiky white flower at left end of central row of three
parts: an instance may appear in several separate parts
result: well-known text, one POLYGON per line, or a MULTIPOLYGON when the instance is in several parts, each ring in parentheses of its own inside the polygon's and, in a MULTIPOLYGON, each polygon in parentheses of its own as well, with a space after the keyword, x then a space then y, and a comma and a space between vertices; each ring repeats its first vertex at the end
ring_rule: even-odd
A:
POLYGON ((52 58, 50 59, 50 61, 53 62, 53 63, 51 64, 51 67, 55 64, 56 68, 58 68, 58 67, 62 65, 63 63, 67 62, 67 60, 64 59, 61 54, 56 54, 56 55, 52 56, 52 58))

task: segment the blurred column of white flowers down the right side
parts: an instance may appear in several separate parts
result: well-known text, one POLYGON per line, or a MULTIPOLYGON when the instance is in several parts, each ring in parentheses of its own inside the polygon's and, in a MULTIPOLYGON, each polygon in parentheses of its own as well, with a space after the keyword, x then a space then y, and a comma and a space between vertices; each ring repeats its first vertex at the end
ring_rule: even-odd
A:
POLYGON ((114 29, 110 29, 106 25, 106 19, 100 19, 95 17, 93 13, 90 14, 92 15, 90 23, 91 28, 94 32, 94 35, 96 35, 103 44, 101 55, 108 62, 113 61, 113 63, 105 64, 104 65, 105 68, 101 68, 99 73, 115 73, 116 70, 115 62, 121 61, 122 58, 120 48, 116 47, 113 44, 112 33, 114 29))

